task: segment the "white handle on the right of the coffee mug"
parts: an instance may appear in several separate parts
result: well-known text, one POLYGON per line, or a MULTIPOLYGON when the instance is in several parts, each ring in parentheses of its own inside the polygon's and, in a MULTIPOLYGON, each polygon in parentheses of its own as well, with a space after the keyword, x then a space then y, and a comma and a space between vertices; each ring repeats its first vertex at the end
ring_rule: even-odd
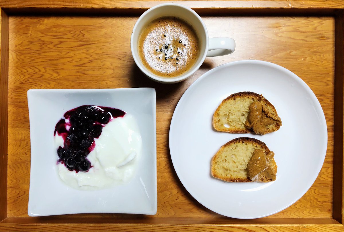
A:
POLYGON ((233 53, 235 41, 228 37, 209 38, 207 57, 224 56, 233 53))

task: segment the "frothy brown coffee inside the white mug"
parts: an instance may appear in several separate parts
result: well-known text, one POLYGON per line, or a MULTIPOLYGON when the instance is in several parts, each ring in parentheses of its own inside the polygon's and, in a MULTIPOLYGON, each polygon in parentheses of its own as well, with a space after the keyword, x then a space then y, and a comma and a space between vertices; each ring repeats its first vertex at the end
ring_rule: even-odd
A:
POLYGON ((195 30, 175 17, 161 17, 143 29, 138 52, 143 65, 162 77, 176 77, 188 71, 198 58, 195 30))

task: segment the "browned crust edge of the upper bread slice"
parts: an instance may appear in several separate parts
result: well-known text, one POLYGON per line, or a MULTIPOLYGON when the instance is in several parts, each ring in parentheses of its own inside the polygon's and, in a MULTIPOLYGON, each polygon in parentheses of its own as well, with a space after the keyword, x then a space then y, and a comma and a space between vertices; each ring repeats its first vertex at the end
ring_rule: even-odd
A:
MULTIPOLYGON (((227 127, 219 128, 216 126, 216 115, 218 114, 218 111, 224 105, 224 103, 226 101, 231 101, 231 100, 236 100, 236 98, 246 98, 246 97, 254 98, 255 101, 263 101, 266 106, 271 107, 271 109, 274 111, 274 113, 276 113, 276 115, 278 115, 276 108, 263 95, 259 95, 257 93, 249 92, 249 91, 239 92, 239 93, 231 94, 227 98, 222 100, 221 104, 215 110, 215 112, 213 114, 213 121, 212 121, 212 124, 213 124, 213 127, 215 130, 221 131, 221 132, 229 132, 229 133, 233 133, 233 134, 245 134, 245 133, 253 132, 252 130, 247 129, 247 128, 245 128, 245 129, 233 129, 233 128, 227 128, 227 127)), ((279 128, 280 128, 280 125, 278 123, 276 123, 275 127, 273 127, 271 132, 277 131, 279 128)))

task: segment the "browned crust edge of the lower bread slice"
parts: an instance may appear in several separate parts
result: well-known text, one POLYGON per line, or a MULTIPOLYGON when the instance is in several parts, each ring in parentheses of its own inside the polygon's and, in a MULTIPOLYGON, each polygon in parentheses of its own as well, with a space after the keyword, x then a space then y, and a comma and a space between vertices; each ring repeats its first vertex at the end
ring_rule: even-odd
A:
MULTIPOLYGON (((216 154, 213 156, 212 160, 211 160, 211 175, 214 176, 217 179, 223 180, 223 181, 227 181, 227 182, 252 182, 249 178, 223 178, 222 176, 218 176, 216 174, 216 170, 215 170, 215 165, 213 165, 214 163, 214 159, 215 157, 222 152, 222 150, 227 147, 227 146, 231 146, 235 143, 241 143, 241 142, 246 142, 246 143, 252 143, 255 144, 257 146, 259 146, 261 149, 263 149, 264 151, 266 151, 267 153, 270 152, 270 149, 268 148, 268 146, 266 146, 266 144, 258 139, 255 138, 249 138, 249 137, 239 137, 239 138, 235 138, 232 139, 231 141, 227 142, 226 144, 224 144, 217 152, 216 154)), ((273 162, 272 168, 273 168, 273 172, 277 173, 277 165, 275 162, 275 159, 272 159, 271 162, 273 162)), ((262 182, 270 182, 269 180, 264 180, 262 182)))

